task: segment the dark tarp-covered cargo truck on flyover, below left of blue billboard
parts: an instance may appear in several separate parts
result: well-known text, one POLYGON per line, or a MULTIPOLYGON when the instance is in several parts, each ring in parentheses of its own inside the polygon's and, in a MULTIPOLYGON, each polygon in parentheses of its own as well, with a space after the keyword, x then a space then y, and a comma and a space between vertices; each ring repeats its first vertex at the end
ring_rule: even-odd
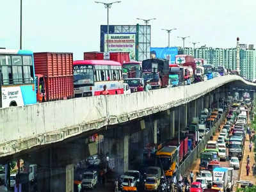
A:
POLYGON ((149 81, 152 89, 164 88, 169 83, 169 61, 161 59, 148 59, 142 61, 142 76, 149 81))

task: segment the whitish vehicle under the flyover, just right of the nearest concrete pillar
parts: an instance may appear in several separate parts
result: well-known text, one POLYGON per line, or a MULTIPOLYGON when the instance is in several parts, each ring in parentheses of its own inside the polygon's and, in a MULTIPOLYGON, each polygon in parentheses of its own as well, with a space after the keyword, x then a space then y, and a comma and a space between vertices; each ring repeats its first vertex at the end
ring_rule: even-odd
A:
POLYGON ((84 172, 82 179, 82 189, 91 188, 93 189, 98 181, 98 176, 96 171, 84 172))

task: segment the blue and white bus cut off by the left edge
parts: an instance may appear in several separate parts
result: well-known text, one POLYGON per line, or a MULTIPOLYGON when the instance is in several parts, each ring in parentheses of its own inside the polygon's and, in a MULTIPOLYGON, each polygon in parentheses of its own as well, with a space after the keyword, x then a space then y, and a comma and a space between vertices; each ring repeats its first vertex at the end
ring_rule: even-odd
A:
POLYGON ((0 107, 36 103, 33 52, 0 49, 0 107))

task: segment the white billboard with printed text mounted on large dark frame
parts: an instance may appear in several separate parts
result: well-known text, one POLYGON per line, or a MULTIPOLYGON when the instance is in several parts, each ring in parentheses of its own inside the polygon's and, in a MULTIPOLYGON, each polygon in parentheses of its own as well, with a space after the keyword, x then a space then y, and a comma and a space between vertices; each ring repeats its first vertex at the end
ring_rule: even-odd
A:
POLYGON ((136 33, 104 34, 104 51, 129 52, 131 60, 135 60, 136 33))

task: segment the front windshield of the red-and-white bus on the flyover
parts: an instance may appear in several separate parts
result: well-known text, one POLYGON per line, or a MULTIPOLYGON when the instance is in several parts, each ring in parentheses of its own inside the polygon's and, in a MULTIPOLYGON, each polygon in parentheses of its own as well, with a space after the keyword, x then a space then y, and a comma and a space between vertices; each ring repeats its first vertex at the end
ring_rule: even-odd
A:
POLYGON ((93 84, 93 69, 74 70, 74 84, 93 84))

